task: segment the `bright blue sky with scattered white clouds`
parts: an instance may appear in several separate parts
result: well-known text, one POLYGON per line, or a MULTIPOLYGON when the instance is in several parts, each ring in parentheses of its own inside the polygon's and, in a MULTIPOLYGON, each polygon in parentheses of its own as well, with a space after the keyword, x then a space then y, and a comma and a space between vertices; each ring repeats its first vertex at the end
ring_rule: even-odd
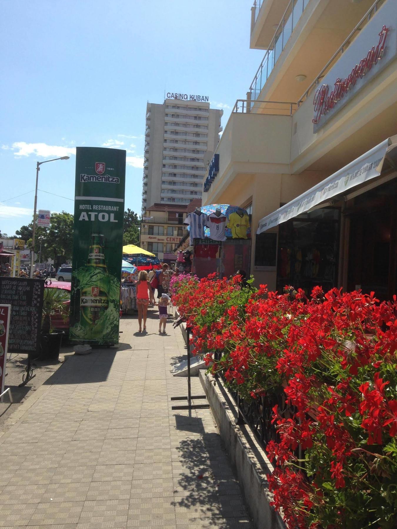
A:
POLYGON ((249 49, 251 5, 2 0, 2 233, 31 221, 36 161, 70 156, 41 167, 38 209, 73 213, 82 145, 127 149, 125 207, 140 213, 147 101, 163 103, 164 90, 208 95, 224 127, 264 54, 249 49))

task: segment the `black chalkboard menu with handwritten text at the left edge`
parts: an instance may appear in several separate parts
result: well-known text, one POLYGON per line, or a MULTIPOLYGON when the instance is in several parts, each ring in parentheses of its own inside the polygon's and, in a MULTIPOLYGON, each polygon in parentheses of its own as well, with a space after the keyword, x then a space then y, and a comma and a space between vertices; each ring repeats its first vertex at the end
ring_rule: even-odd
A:
POLYGON ((0 277, 0 304, 11 305, 8 351, 40 350, 44 279, 0 277))

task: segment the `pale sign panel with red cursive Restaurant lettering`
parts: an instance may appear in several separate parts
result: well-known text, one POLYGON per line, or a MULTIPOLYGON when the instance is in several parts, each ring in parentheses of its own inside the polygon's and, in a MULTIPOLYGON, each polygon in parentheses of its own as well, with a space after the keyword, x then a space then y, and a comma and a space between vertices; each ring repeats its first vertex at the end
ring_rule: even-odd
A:
POLYGON ((385 2, 322 79, 313 99, 317 132, 397 56, 397 2, 385 2))

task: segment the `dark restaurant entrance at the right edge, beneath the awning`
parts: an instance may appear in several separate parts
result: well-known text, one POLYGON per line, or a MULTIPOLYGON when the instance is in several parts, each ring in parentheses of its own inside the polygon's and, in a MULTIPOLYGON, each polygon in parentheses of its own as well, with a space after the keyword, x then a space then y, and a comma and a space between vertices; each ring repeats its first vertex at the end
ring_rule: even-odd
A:
POLYGON ((354 199, 350 218, 348 290, 375 292, 378 299, 396 293, 397 181, 376 187, 354 199))

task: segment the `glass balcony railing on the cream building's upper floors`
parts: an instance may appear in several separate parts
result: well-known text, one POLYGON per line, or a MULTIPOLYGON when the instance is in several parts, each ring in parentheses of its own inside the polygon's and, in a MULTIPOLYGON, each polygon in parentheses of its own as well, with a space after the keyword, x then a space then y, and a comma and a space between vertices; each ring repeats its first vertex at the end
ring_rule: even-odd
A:
MULTIPOLYGON (((309 4, 310 0, 291 0, 288 4, 281 22, 278 24, 278 28, 274 34, 272 41, 269 44, 269 48, 265 53, 258 71, 254 77, 254 80, 249 87, 249 92, 251 94, 251 100, 257 99, 262 88, 265 86, 265 83, 272 73, 272 70, 281 55, 281 52, 285 48, 285 44, 288 39, 291 37, 293 30, 295 29, 296 24, 299 22, 305 7, 309 4)), ((256 1, 255 5, 255 20, 257 13, 259 13, 261 7, 261 0, 256 1)))

